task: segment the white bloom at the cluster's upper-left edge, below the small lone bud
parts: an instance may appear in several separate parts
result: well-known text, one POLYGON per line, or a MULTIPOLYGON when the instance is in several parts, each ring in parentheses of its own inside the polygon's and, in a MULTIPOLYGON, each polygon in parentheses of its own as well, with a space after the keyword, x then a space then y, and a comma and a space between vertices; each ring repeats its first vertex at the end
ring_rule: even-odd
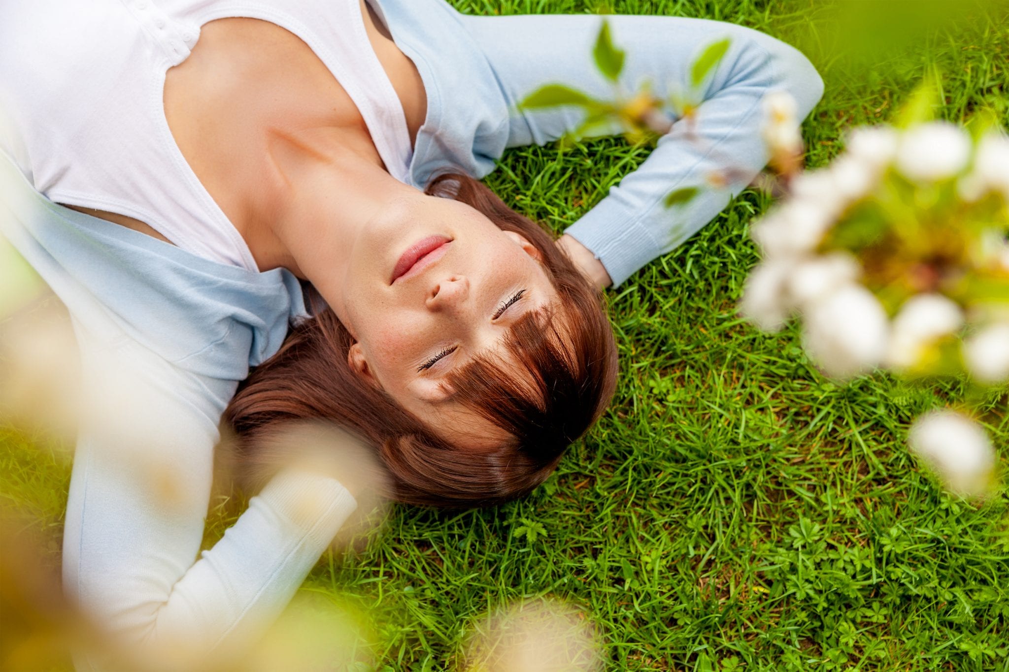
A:
POLYGON ((835 214, 809 200, 788 200, 753 226, 751 236, 766 256, 805 254, 823 240, 835 214))

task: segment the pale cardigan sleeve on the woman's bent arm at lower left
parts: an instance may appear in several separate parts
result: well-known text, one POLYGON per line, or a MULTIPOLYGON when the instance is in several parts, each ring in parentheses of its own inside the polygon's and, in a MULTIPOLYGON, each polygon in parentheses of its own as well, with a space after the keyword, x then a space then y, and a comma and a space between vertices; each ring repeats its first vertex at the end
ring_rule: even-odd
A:
MULTIPOLYGON (((199 380, 129 341, 76 324, 84 413, 64 530, 64 585, 83 613, 154 667, 191 669, 254 642, 356 508, 335 479, 289 467, 200 552, 216 404, 199 380)), ((233 386, 233 384, 231 384, 233 386)), ((107 662, 78 656, 79 669, 107 662)))

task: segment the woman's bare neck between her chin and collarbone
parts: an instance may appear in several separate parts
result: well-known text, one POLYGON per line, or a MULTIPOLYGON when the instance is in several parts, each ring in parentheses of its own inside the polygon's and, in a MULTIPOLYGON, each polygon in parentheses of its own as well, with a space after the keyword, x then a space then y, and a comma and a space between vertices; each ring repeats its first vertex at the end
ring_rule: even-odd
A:
POLYGON ((417 194, 385 171, 366 130, 276 132, 270 158, 268 216, 246 235, 249 248, 261 270, 283 266, 321 291, 346 268, 367 223, 394 198, 417 194))

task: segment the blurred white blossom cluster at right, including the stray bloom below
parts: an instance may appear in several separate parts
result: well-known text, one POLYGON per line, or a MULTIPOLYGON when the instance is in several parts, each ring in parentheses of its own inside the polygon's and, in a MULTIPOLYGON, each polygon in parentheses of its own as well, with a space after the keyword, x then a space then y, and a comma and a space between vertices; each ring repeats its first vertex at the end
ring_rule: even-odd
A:
MULTIPOLYGON (((930 109, 921 104, 927 90, 915 101, 911 110, 930 109)), ((772 129, 792 122, 779 94, 765 112, 774 156, 793 140, 772 129)), ((741 312, 769 331, 800 316, 806 353, 834 378, 886 368, 919 381, 966 375, 976 388, 1003 384, 1009 138, 909 116, 900 115, 904 128, 854 129, 827 167, 784 175, 785 198, 752 226, 764 259, 741 312)), ((921 422, 915 449, 952 490, 980 494, 988 480, 977 455, 994 454, 984 430, 950 413, 921 422)))

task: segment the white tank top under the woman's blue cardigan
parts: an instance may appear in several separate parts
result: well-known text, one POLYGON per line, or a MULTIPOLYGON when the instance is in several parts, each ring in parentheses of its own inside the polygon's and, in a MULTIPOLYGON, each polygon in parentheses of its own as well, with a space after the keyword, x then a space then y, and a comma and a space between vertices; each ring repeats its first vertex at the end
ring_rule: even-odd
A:
POLYGON ((131 217, 184 250, 257 270, 164 117, 165 72, 203 24, 226 17, 269 21, 308 44, 385 168, 409 181, 406 116, 358 0, 2 0, 0 149, 50 200, 131 217))

